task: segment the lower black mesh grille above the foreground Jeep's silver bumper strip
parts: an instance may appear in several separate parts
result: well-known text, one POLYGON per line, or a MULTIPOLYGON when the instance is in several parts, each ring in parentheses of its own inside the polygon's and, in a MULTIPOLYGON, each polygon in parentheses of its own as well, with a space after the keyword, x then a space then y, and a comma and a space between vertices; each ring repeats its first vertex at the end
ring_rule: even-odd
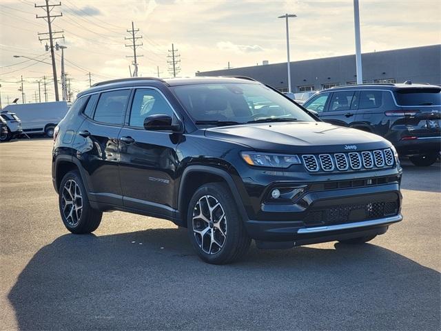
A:
POLYGON ((319 210, 311 210, 303 221, 308 225, 329 225, 355 221, 368 221, 398 214, 398 202, 378 202, 336 205, 319 210))

